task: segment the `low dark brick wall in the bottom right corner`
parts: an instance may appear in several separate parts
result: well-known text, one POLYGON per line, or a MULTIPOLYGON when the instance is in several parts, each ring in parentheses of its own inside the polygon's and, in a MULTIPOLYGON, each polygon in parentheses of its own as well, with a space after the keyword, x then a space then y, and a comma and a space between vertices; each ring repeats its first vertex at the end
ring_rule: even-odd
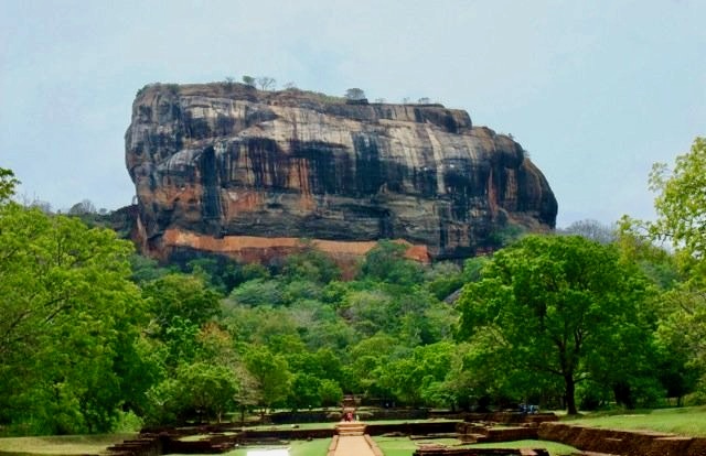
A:
POLYGON ((706 438, 684 437, 657 432, 617 431, 566 423, 543 423, 538 436, 584 452, 620 456, 703 456, 706 438))

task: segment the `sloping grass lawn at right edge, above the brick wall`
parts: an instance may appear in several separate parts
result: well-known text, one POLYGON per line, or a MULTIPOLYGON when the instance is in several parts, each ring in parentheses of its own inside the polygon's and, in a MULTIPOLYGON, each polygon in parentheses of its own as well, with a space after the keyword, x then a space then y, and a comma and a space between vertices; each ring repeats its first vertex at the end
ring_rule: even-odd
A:
POLYGON ((692 437, 706 437, 706 406, 602 412, 587 414, 578 419, 566 416, 561 421, 593 427, 657 431, 692 437))

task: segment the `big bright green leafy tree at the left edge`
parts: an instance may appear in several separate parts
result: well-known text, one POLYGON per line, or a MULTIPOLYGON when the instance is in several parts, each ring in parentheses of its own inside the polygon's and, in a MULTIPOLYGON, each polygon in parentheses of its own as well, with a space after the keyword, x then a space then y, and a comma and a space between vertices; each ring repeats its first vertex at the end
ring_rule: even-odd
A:
POLYGON ((125 384, 146 367, 131 252, 110 230, 0 206, 0 422, 31 423, 31 433, 108 431, 139 397, 125 384))

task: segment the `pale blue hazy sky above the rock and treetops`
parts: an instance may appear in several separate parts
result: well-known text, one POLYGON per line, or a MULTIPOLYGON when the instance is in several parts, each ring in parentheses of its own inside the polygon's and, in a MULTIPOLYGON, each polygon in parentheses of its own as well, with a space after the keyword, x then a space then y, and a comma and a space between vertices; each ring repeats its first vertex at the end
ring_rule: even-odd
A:
POLYGON ((655 162, 706 135, 703 0, 0 0, 0 167, 54 210, 131 203, 125 131, 146 84, 243 75, 511 133, 557 227, 654 218, 655 162))

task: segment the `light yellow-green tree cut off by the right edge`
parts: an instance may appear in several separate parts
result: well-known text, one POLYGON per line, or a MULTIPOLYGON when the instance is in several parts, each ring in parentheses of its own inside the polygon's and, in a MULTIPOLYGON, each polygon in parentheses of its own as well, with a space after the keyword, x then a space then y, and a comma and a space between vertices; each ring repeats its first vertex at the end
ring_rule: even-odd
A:
MULTIPOLYGON (((650 175, 650 189, 657 193, 653 222, 623 217, 624 239, 632 251, 640 242, 670 242, 680 278, 668 283, 662 300, 666 306, 660 321, 660 340, 676 350, 681 359, 681 381, 693 370, 706 370, 706 139, 696 138, 688 153, 676 158, 674 167, 655 163, 650 175), (646 236, 645 236, 646 235, 646 236), (686 350, 685 358, 680 352, 686 350)), ((656 271, 664 276, 664 269, 656 271)), ((673 276, 673 274, 672 274, 673 276)), ((704 380, 702 388, 706 389, 704 380)), ((688 389, 688 388, 686 388, 688 389)))

